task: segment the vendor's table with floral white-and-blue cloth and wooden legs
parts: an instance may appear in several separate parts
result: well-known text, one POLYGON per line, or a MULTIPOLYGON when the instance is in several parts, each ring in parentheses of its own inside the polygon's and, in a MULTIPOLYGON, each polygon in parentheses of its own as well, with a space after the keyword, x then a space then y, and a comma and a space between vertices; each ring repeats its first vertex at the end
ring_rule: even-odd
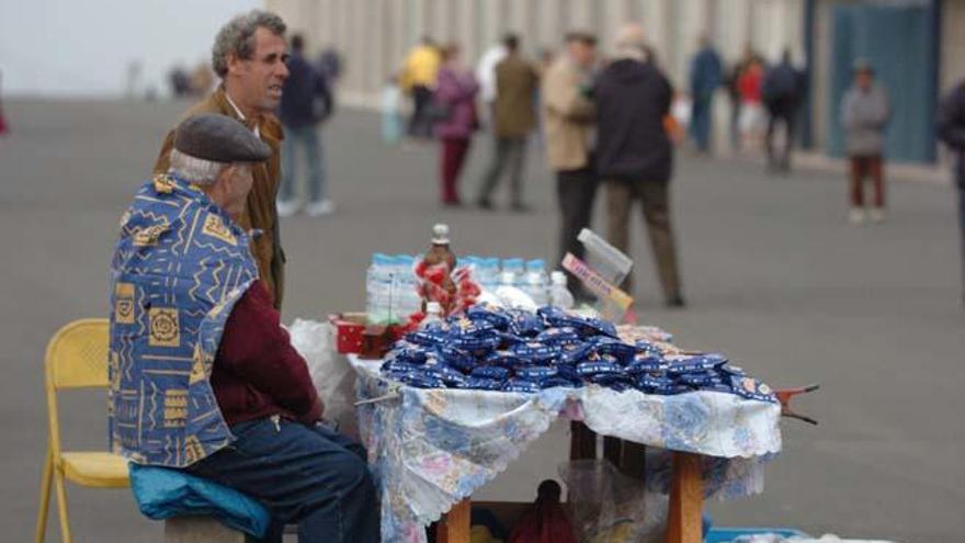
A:
POLYGON ((763 464, 781 450, 781 406, 717 392, 676 396, 598 385, 516 394, 400 386, 382 361, 350 357, 357 375, 363 442, 382 489, 384 541, 422 543, 440 520, 446 543, 469 541, 473 491, 559 416, 591 430, 667 451, 647 484, 670 493, 668 541, 699 543, 705 497, 763 489, 763 464))

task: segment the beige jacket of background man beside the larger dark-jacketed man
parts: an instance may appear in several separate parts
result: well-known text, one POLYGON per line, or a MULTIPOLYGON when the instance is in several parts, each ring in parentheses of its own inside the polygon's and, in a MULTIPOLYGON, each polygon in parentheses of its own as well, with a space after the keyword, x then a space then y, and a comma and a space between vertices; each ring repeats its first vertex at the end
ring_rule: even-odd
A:
POLYGON ((594 111, 580 88, 584 77, 564 55, 543 78, 546 161, 554 170, 576 170, 589 165, 594 111))

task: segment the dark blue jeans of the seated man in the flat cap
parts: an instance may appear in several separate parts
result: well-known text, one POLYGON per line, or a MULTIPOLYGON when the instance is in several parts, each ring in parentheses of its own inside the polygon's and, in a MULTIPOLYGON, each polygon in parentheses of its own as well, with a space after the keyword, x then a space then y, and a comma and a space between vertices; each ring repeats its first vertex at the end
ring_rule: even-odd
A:
POLYGON ((298 541, 377 542, 379 501, 365 450, 322 427, 271 419, 231 427, 237 440, 188 472, 240 490, 271 511, 264 542, 281 543, 285 524, 298 541))

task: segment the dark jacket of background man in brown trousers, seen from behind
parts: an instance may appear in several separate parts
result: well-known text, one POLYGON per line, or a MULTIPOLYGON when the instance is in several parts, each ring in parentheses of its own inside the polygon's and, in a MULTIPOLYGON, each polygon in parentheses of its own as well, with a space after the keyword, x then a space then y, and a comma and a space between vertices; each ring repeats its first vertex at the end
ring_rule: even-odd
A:
POLYGON ((611 64, 594 86, 597 171, 601 178, 668 181, 673 161, 663 117, 673 90, 651 65, 611 64))

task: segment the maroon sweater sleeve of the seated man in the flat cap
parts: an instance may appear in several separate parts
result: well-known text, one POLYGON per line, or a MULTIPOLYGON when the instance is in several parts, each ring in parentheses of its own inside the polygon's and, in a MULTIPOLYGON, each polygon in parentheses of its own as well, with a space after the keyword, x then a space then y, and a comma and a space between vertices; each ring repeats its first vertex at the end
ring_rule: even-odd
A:
POLYGON ((228 426, 273 415, 306 423, 321 418, 308 365, 292 347, 261 280, 228 316, 211 384, 228 426))

